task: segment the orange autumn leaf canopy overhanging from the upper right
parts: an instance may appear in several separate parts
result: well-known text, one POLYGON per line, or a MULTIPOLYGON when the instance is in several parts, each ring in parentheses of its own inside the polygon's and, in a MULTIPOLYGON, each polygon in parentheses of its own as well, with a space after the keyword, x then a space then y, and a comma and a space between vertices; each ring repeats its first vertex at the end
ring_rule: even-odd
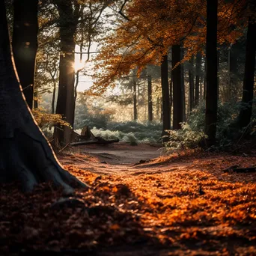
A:
MULTIPOLYGON (((246 1, 219 1, 219 44, 234 43, 246 24, 246 1), (243 19, 242 19, 243 13, 243 19)), ((147 64, 159 65, 170 46, 182 43, 187 49, 183 61, 203 51, 206 41, 206 1, 133 0, 127 2, 115 32, 103 40, 97 57, 93 90, 100 93, 115 86, 115 79, 147 64)))

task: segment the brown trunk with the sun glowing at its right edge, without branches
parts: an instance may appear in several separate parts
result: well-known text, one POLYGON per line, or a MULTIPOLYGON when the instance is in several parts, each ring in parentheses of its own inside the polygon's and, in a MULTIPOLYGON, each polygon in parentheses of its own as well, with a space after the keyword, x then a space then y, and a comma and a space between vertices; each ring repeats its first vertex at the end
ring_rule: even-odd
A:
POLYGON ((59 83, 56 114, 63 115, 70 127, 56 127, 55 143, 69 143, 75 118, 75 46, 76 24, 78 17, 74 14, 71 1, 55 0, 58 7, 59 29, 61 38, 61 57, 59 64, 59 83))

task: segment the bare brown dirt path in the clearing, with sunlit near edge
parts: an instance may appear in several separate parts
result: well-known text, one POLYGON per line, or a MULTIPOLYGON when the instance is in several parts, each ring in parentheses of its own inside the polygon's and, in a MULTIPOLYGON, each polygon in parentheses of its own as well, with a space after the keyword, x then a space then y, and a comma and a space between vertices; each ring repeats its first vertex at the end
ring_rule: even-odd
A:
MULTIPOLYGON (((63 165, 75 165, 97 174, 135 174, 139 162, 149 162, 161 156, 160 147, 139 144, 86 145, 75 148, 72 156, 59 156, 63 165), (89 164, 88 164, 89 162, 89 164)), ((141 171, 138 171, 141 172, 141 171)))

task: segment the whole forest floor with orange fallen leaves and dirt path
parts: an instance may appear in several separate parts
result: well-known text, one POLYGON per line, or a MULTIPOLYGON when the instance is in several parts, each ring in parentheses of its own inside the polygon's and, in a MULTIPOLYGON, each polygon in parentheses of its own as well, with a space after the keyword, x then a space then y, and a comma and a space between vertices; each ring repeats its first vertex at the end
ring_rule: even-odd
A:
POLYGON ((120 143, 58 159, 91 189, 58 204, 49 184, 25 195, 2 186, 3 255, 256 255, 256 173, 225 171, 256 167, 255 152, 161 156, 120 143))

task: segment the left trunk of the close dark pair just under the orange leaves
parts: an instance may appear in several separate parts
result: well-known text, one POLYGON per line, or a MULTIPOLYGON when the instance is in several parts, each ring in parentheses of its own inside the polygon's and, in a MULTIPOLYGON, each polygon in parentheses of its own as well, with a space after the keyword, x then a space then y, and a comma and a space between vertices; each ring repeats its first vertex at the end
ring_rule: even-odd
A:
MULTIPOLYGON (((161 64, 161 85, 162 85, 162 136, 167 135, 166 129, 171 129, 171 109, 168 84, 168 55, 163 56, 161 64)), ((168 138, 163 138, 168 141, 168 138)))

